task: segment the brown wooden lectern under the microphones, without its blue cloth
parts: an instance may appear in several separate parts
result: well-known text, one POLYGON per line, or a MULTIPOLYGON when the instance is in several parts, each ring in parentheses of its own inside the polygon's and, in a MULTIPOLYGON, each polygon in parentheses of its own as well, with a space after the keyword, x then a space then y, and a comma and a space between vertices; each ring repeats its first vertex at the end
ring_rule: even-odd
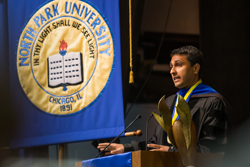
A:
MULTIPOLYGON (((178 152, 134 151, 132 152, 132 167, 183 167, 178 152)), ((196 167, 221 167, 221 153, 197 153, 196 167)), ((82 167, 82 161, 75 167, 82 167)))

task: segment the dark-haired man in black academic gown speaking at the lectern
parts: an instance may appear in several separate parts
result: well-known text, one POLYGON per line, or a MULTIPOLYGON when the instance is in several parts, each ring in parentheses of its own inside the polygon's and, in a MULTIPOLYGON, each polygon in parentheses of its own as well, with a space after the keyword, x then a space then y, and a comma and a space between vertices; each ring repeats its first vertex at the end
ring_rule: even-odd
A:
MULTIPOLYGON (((193 46, 184 46, 171 52, 170 74, 179 92, 168 97, 166 104, 172 111, 172 119, 179 119, 175 110, 178 95, 184 97, 195 123, 198 152, 224 152, 228 138, 227 112, 231 110, 226 100, 213 88, 203 85, 200 78, 203 56, 193 46)), ((151 151, 177 151, 167 142, 167 134, 157 126, 154 136, 147 146, 151 151)), ((102 150, 108 143, 100 143, 102 150)), ((129 144, 112 143, 105 151, 106 155, 127 151, 144 150, 145 142, 132 141, 129 144)))

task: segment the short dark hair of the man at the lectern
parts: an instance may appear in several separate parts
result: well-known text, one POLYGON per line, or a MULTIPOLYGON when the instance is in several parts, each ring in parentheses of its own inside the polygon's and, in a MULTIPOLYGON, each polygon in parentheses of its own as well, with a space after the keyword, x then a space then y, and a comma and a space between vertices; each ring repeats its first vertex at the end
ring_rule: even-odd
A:
POLYGON ((201 69, 203 66, 203 54, 202 52, 194 46, 183 46, 175 49, 171 52, 170 57, 174 55, 187 55, 187 60, 190 62, 191 66, 196 63, 200 64, 199 76, 201 75, 201 69))

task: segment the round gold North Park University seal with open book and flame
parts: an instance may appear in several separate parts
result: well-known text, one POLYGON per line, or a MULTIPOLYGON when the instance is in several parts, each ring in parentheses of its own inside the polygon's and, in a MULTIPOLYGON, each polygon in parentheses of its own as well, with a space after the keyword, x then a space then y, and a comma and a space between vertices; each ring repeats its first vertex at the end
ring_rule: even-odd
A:
POLYGON ((78 0, 54 0, 24 27, 17 72, 27 97, 42 111, 83 110, 104 91, 114 64, 110 28, 99 10, 78 0))

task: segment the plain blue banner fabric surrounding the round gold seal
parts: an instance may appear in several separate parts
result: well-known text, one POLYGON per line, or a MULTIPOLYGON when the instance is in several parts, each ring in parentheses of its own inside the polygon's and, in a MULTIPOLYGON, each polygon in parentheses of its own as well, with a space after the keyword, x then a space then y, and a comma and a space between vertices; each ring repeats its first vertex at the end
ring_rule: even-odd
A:
POLYGON ((112 76, 101 95, 83 111, 67 116, 47 114, 23 92, 16 67, 17 40, 29 18, 45 0, 8 0, 11 110, 15 116, 10 147, 21 148, 117 136, 124 129, 118 0, 89 0, 106 18, 113 34, 112 76))

